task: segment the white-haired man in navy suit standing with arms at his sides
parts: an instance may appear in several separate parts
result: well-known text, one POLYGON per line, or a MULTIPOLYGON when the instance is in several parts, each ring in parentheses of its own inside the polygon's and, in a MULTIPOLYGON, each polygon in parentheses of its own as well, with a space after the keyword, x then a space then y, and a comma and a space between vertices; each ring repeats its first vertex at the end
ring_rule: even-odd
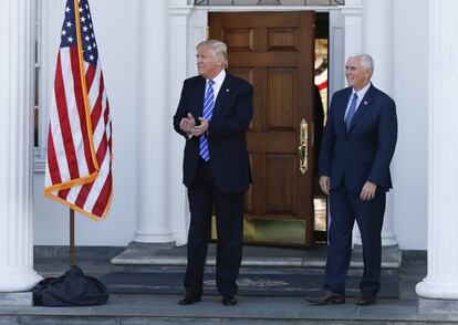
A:
POLYGON ((320 187, 330 196, 331 216, 324 289, 305 300, 314 304, 345 302, 356 220, 364 261, 357 304, 372 305, 381 287, 381 232, 385 196, 392 188, 396 105, 371 83, 374 63, 369 55, 351 56, 345 69, 348 87, 332 98, 319 165, 320 187))

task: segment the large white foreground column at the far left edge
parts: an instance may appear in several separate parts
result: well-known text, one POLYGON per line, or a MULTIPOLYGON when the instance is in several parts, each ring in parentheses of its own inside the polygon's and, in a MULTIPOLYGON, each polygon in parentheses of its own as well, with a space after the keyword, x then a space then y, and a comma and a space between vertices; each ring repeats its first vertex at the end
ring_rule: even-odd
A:
POLYGON ((33 3, 0 2, 0 292, 31 290, 33 3))

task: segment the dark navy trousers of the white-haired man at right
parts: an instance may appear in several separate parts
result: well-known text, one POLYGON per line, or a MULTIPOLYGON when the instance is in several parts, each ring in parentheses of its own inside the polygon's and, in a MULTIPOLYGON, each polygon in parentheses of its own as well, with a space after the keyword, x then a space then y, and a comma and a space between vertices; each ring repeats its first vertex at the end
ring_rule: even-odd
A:
POLYGON ((350 192, 343 182, 330 193, 331 224, 324 287, 345 294, 345 279, 352 255, 352 232, 356 220, 363 243, 364 273, 360 291, 377 295, 381 283, 382 226, 385 213, 385 191, 377 188, 374 199, 362 201, 360 193, 350 192))

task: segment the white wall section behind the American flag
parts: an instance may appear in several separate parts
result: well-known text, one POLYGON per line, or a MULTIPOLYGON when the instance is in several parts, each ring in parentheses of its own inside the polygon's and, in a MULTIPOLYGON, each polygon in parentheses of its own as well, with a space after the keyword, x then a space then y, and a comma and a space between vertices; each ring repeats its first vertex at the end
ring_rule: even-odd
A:
MULTIPOLYGON (((64 1, 54 1, 62 17, 64 1)), ((76 213, 75 241, 77 245, 125 245, 134 237, 137 221, 136 179, 137 179, 137 112, 138 112, 138 63, 139 1, 131 0, 128 6, 122 1, 97 0, 91 2, 92 19, 98 44, 100 59, 105 77, 105 88, 111 105, 113 120, 113 177, 114 198, 111 212, 105 221, 96 222, 76 213)), ((61 22, 62 23, 62 22, 61 22)), ((61 24, 60 24, 61 25, 61 24)), ((49 30, 55 38, 60 30, 49 30)), ((43 35, 46 38, 48 35, 43 35)), ((152 32, 154 39, 154 32, 152 32)), ((56 53, 59 44, 50 53, 56 53)), ((54 54, 55 55, 55 54, 54 54)), ((53 82, 55 56, 48 64, 43 61, 53 82)), ((152 88, 154 85, 152 85, 152 88)), ((50 87, 48 87, 50 88, 50 87)), ((52 88, 52 87, 51 87, 52 88)), ((52 93, 43 94, 50 96, 52 93)), ((48 104, 49 108, 49 104, 48 104)), ((69 244, 69 209, 43 197, 44 172, 34 175, 34 243, 69 244)))

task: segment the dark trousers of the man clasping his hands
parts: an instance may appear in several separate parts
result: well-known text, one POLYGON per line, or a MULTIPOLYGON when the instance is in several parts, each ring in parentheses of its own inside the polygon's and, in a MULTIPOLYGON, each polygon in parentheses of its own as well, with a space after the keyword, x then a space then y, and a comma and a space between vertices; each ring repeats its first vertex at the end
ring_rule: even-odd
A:
POLYGON ((236 282, 242 259, 244 193, 223 193, 218 190, 214 186, 209 164, 211 162, 199 160, 196 179, 188 188, 190 227, 185 289, 190 295, 202 294, 204 268, 215 205, 218 234, 216 283, 222 296, 231 296, 238 289, 236 282))

